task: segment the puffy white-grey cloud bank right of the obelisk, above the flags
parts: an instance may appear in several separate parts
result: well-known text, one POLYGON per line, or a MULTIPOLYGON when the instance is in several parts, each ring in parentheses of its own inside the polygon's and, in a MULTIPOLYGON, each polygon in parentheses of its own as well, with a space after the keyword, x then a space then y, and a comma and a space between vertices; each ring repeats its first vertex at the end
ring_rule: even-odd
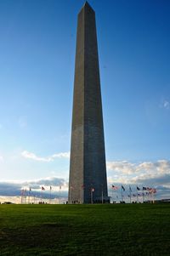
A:
POLYGON ((170 161, 133 163, 127 161, 107 162, 110 181, 123 184, 169 184, 170 161))

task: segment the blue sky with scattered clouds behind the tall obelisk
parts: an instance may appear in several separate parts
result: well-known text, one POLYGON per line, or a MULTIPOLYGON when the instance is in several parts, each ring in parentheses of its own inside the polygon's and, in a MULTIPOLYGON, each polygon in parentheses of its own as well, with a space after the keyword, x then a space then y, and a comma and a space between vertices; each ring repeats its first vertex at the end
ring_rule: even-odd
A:
MULTIPOLYGON (((150 185, 168 197, 170 3, 88 2, 98 30, 108 184, 150 185)), ((83 3, 0 1, 1 184, 61 179, 67 190, 83 3)))

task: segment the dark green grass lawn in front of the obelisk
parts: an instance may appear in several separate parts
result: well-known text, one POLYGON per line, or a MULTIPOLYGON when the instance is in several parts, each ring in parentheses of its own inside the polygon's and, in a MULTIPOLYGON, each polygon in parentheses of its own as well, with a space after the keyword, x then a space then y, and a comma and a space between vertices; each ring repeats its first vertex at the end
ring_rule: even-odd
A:
POLYGON ((0 255, 170 255, 170 204, 0 205, 0 255))

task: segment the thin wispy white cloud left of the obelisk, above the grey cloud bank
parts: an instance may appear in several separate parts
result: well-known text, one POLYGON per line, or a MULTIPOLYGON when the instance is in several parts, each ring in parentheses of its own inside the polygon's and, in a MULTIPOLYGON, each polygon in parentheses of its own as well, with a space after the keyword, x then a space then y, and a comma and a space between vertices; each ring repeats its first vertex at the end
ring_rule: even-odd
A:
POLYGON ((69 158, 70 152, 60 152, 52 156, 41 157, 29 151, 22 151, 21 155, 25 158, 32 159, 39 162, 52 162, 54 161, 55 158, 69 158))

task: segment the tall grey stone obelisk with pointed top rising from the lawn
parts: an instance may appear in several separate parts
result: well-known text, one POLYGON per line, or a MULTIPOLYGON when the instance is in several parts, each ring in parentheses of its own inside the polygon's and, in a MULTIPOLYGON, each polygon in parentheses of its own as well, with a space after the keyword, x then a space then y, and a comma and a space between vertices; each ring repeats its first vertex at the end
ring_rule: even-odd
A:
POLYGON ((95 13, 78 14, 69 203, 109 202, 95 13))

